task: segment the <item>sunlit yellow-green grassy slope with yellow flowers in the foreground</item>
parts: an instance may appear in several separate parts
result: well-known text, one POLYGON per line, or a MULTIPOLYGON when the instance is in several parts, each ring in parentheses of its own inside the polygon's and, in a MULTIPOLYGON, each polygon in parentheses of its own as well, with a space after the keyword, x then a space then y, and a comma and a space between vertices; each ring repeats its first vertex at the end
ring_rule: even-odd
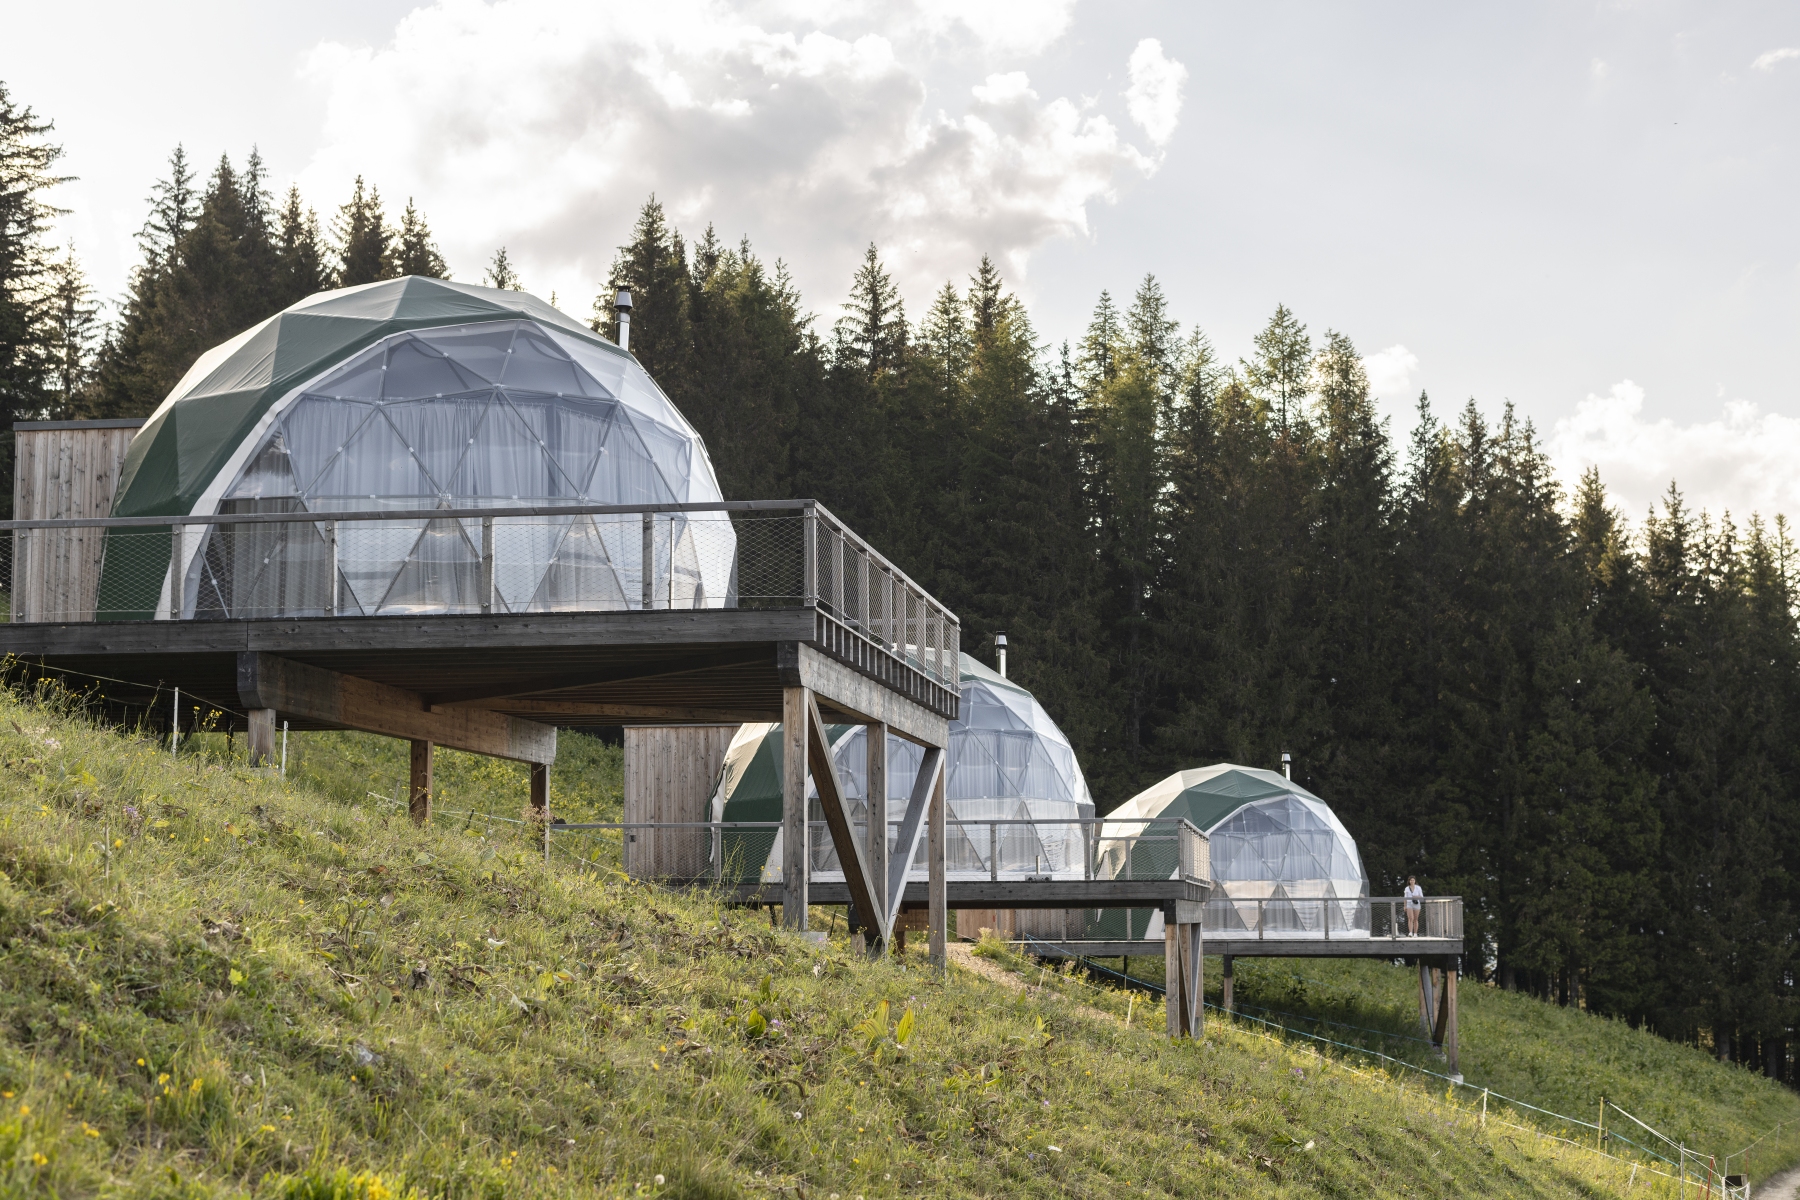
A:
MULTIPOLYGON (((1127 1027, 1118 993, 868 964, 707 896, 547 869, 509 828, 416 829, 382 799, 398 750, 373 739, 302 739, 286 781, 216 748, 176 761, 0 693, 0 1196, 1595 1196, 1631 1178, 1253 1031, 1170 1043, 1154 1007, 1127 1027)), ((592 772, 560 770, 556 802, 616 804, 616 754, 565 754, 592 772)), ((517 808, 508 770, 445 756, 445 802, 517 808)))

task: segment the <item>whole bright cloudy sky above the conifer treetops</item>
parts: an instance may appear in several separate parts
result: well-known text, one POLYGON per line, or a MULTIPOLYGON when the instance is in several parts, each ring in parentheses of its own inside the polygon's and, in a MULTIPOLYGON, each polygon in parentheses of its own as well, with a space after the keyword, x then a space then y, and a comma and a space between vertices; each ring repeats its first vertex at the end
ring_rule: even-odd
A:
POLYGON ((835 313, 983 252, 1040 331, 1154 272, 1228 356, 1350 335, 1404 437, 1512 401, 1638 515, 1800 516, 1800 7, 1075 0, 34 5, 0 79, 58 122, 115 295, 175 142, 326 210, 414 196, 585 313, 644 196, 835 313), (34 36, 32 36, 34 34, 34 36), (81 47, 79 54, 45 47, 81 47))

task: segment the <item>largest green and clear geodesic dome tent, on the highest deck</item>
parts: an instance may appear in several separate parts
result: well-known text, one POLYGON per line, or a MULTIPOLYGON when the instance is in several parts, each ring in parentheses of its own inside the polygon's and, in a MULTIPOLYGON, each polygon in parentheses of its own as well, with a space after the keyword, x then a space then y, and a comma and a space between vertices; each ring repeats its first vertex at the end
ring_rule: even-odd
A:
MULTIPOLYGON (((407 277, 310 297, 207 351, 133 439, 113 515, 706 500, 706 446, 628 353, 522 291, 407 277)), ((657 536, 668 606, 729 603, 722 513, 657 536)), ((479 518, 342 522, 335 540, 324 522, 184 538, 180 615, 482 610, 479 518)), ((110 531, 103 612, 171 615, 169 542, 110 531)), ((495 518, 491 556, 497 612, 643 603, 635 515, 495 518)))

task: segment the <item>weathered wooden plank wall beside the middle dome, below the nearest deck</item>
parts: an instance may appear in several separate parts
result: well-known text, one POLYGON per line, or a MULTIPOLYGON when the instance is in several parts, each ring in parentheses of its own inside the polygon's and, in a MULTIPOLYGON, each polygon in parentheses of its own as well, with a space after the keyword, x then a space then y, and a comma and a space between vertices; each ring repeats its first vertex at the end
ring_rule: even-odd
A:
MULTIPOLYGON (((711 820, 713 790, 736 725, 628 725, 625 820, 711 820)), ((706 829, 626 829, 625 871, 644 880, 698 880, 711 873, 706 829)))

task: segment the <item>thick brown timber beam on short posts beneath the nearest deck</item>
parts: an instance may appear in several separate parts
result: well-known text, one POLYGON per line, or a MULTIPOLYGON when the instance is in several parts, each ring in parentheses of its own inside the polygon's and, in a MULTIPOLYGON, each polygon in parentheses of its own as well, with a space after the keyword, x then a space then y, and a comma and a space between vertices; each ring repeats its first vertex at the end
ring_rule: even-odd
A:
POLYGON ((518 763, 556 761, 556 727, 481 709, 430 709, 423 696, 279 655, 238 655, 238 700, 248 709, 387 738, 428 741, 518 763))

